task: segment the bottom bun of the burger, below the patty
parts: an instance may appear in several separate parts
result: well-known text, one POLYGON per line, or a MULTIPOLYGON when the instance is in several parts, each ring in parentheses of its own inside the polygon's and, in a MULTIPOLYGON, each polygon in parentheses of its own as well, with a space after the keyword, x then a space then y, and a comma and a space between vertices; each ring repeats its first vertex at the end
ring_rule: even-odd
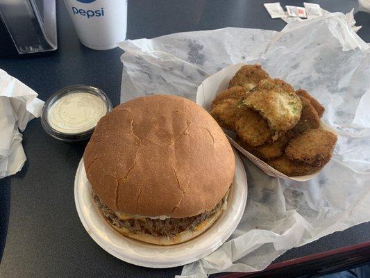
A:
POLYGON ((152 236, 151 234, 133 234, 126 228, 119 228, 114 224, 110 223, 109 221, 107 222, 110 224, 110 226, 115 228, 121 234, 128 236, 129 238, 134 238, 136 240, 144 241, 145 243, 151 243, 155 245, 174 245, 178 243, 184 243, 185 241, 191 240, 192 238, 195 238, 196 236, 202 234, 203 231, 211 227, 212 224, 219 218, 219 215, 221 215, 222 211, 223 209, 220 208, 217 212, 210 216, 210 218, 207 218, 206 220, 198 224, 192 231, 183 231, 180 234, 177 234, 176 236, 173 237, 152 236))

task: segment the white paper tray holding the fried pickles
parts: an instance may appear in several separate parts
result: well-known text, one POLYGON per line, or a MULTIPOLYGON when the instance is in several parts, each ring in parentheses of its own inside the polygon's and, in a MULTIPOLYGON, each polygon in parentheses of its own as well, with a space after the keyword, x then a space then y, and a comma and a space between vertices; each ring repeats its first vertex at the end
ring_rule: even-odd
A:
MULTIPOLYGON (((246 65, 245 63, 238 63, 236 65, 229 65, 224 69, 220 70, 219 72, 211 75, 208 79, 205 79, 201 85, 199 85, 198 90, 196 90, 196 103, 205 108, 205 110, 210 111, 212 101, 215 99, 217 94, 223 90, 228 88, 228 82, 230 79, 233 78, 235 73, 242 67, 246 65)), ((332 129, 327 124, 321 122, 321 129, 326 129, 328 131, 332 131, 337 133, 334 129, 332 129)), ((241 147, 237 142, 235 142, 236 134, 232 131, 226 131, 226 136, 230 141, 231 145, 236 147, 239 152, 244 154, 250 161, 252 161, 255 165, 257 165, 263 172, 268 174, 271 177, 276 177, 280 179, 290 179, 292 181, 309 181, 314 177, 317 177, 319 171, 316 171, 312 174, 308 174, 305 176, 297 176, 297 177, 288 177, 286 174, 279 172, 278 170, 274 169, 264 161, 260 160, 260 158, 253 156, 250 152, 247 152, 243 147, 241 147)))

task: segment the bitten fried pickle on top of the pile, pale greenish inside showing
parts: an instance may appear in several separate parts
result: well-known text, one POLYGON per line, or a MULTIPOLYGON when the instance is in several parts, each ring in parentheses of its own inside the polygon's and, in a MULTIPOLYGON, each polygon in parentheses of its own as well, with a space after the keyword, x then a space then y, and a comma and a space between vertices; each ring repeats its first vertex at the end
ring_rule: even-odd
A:
MULTIPOLYGON (((258 111, 276 135, 292 129, 300 120, 302 111, 301 99, 291 85, 280 79, 260 81, 250 94, 243 97, 239 106, 258 111)), ((274 140, 277 138, 274 136, 274 140)))

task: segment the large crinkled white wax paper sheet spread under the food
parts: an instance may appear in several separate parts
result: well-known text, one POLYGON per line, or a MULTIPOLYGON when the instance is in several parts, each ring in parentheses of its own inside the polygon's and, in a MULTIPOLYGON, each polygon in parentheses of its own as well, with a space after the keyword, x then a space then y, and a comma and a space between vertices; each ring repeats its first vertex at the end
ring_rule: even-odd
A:
POLYGON ((222 68, 260 63, 308 90, 339 133, 330 163, 310 181, 269 177, 244 158, 249 198, 241 222, 218 250, 185 265, 184 277, 262 270, 292 247, 370 220, 370 54, 347 20, 335 13, 279 33, 224 28, 121 43, 121 101, 153 93, 195 100, 201 82, 222 68))

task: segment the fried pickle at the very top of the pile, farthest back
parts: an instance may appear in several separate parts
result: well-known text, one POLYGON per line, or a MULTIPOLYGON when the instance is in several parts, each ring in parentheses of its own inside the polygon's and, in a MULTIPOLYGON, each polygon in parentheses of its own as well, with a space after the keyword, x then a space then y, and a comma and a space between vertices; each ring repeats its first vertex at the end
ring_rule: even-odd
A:
POLYGON ((270 76, 262 70, 261 65, 244 65, 236 72, 233 79, 228 83, 228 88, 242 86, 246 90, 252 90, 262 79, 270 76))

